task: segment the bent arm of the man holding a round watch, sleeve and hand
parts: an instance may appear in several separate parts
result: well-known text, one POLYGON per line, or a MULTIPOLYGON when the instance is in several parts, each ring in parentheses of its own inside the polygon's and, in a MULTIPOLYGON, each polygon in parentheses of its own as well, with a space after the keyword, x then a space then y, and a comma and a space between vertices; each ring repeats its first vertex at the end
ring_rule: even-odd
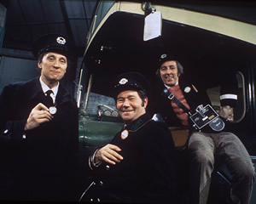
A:
POLYGON ((52 119, 48 108, 40 103, 28 114, 28 104, 22 100, 24 94, 18 85, 9 85, 3 89, 0 96, 0 140, 2 142, 22 141, 25 138, 25 131, 52 119))

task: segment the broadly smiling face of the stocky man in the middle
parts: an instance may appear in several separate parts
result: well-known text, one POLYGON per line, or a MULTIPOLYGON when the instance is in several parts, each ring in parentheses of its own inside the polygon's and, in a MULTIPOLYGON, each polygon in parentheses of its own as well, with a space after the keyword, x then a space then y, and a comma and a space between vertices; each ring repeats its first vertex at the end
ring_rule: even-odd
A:
POLYGON ((135 121, 139 116, 146 113, 148 98, 143 100, 137 94, 137 91, 127 90, 119 93, 117 96, 116 107, 119 111, 119 116, 125 123, 135 121))

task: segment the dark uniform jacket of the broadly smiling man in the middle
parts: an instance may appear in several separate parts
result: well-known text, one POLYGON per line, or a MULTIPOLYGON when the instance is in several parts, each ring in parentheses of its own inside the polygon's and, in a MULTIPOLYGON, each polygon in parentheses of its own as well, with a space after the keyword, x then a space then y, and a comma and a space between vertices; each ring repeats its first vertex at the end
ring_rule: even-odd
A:
POLYGON ((94 196, 109 202, 174 203, 176 152, 165 123, 145 114, 117 133, 111 144, 119 146, 124 160, 116 165, 103 161, 94 168, 101 184, 94 196))

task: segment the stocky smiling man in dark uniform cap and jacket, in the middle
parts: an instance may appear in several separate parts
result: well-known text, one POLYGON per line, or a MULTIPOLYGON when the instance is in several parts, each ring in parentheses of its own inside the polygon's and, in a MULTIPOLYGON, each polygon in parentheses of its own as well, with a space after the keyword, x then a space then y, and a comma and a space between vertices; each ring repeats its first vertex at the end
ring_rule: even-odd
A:
POLYGON ((89 158, 96 186, 90 201, 175 203, 176 152, 165 123, 146 112, 148 81, 137 72, 120 75, 114 86, 125 126, 89 158))

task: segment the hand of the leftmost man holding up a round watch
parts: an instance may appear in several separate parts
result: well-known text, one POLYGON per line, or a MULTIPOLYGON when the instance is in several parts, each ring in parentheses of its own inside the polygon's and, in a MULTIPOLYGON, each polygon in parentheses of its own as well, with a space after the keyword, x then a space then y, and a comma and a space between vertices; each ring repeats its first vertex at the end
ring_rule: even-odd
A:
POLYGON ((40 124, 44 122, 51 121, 52 118, 53 116, 50 115, 49 109, 45 105, 39 103, 30 112, 26 120, 26 125, 24 129, 25 130, 33 129, 35 127, 38 127, 40 124))

